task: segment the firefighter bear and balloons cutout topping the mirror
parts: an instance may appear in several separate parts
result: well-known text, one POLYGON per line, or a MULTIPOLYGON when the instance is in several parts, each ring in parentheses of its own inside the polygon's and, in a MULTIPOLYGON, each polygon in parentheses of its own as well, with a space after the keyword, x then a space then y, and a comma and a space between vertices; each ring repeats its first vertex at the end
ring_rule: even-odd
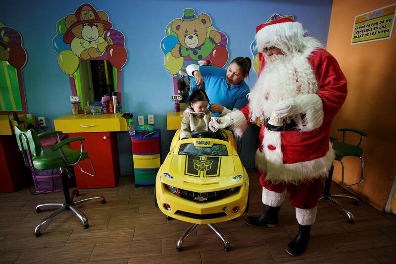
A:
POLYGON ((89 3, 81 4, 74 13, 56 23, 56 36, 52 39, 52 47, 58 54, 60 68, 68 75, 76 72, 79 60, 109 60, 117 70, 121 70, 127 61, 124 34, 113 28, 105 11, 97 11, 89 3), (83 12, 91 15, 84 16, 83 12), (99 36, 88 42, 82 34, 83 27, 89 23, 102 24, 102 27, 98 28, 99 36), (81 35, 74 35, 76 30, 81 30, 81 35))

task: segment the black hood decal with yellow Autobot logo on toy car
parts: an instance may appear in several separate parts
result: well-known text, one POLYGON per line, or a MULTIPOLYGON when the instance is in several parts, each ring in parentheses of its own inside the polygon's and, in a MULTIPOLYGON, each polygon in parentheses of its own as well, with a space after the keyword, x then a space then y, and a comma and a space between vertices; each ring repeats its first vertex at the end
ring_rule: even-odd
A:
POLYGON ((220 176, 221 157, 186 156, 185 174, 194 177, 220 176))

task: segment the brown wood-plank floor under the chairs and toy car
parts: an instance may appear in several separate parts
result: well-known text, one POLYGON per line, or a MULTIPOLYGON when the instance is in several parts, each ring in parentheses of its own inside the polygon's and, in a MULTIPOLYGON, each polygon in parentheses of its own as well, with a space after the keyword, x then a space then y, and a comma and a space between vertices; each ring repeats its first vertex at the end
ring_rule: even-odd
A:
MULTIPOLYGON (((277 227, 247 226, 247 215, 262 209, 258 174, 248 173, 249 212, 216 225, 227 234, 230 252, 206 225, 198 226, 177 252, 176 242, 190 224, 167 221, 154 207, 153 187, 135 187, 133 176, 123 176, 117 188, 80 190, 75 200, 94 195, 107 200, 78 206, 89 229, 71 211, 63 211, 42 227, 39 238, 33 236, 36 224, 54 210, 37 214, 35 206, 61 202, 62 194, 32 195, 27 188, 0 193, 0 263, 396 263, 396 216, 364 202, 355 207, 349 199, 339 201, 353 212, 353 225, 340 208, 322 200, 306 252, 288 255, 286 245, 298 230, 295 209, 285 200, 277 227)), ((331 192, 347 193, 335 183, 331 192)))

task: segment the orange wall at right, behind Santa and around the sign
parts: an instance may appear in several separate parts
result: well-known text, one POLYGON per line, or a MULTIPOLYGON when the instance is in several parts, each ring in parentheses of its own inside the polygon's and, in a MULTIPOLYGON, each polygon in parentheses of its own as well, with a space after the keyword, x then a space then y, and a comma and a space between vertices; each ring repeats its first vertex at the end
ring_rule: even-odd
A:
MULTIPOLYGON (((333 120, 337 128, 357 128, 368 133, 362 143, 364 181, 351 191, 380 211, 384 211, 396 174, 396 32, 392 38, 350 45, 354 17, 395 0, 333 0, 327 50, 340 63, 348 81, 348 96, 333 120)), ((396 26, 396 25, 395 25, 396 26)), ((350 137, 350 139, 354 139, 350 137)), ((360 160, 347 158, 346 179, 360 177, 360 160)), ((334 179, 341 180, 336 163, 334 179)))

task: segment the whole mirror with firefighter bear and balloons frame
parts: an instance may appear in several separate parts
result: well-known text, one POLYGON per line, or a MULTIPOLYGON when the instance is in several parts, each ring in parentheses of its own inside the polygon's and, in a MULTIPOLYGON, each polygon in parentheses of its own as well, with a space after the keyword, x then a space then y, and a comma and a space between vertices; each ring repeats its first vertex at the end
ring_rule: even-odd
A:
POLYGON ((80 113, 104 95, 117 92, 121 104, 121 68, 127 61, 124 34, 115 29, 104 10, 89 3, 77 7, 56 23, 52 47, 61 70, 69 76, 72 96, 80 113))

